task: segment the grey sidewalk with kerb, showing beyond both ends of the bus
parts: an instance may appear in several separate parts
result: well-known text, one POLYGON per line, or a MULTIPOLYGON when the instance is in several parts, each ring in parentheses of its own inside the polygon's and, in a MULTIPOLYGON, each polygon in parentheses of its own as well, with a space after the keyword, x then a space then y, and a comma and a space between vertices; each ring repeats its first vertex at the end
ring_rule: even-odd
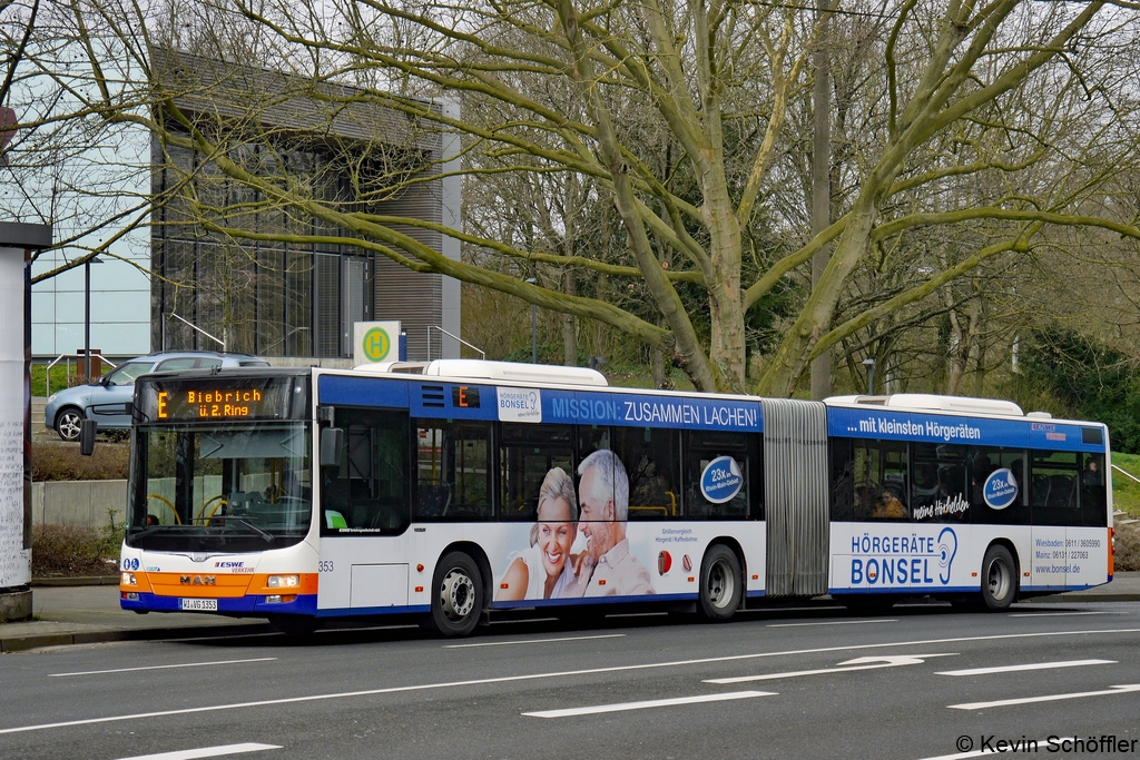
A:
MULTIPOLYGON (((1112 583, 1084 591, 1037 597, 1033 603, 1140 602, 1140 572, 1121 572, 1112 583)), ((160 640, 272 630, 259 619, 202 613, 139 615, 119 607, 117 586, 33 586, 35 620, 0 623, 0 652, 99 641, 160 640)))

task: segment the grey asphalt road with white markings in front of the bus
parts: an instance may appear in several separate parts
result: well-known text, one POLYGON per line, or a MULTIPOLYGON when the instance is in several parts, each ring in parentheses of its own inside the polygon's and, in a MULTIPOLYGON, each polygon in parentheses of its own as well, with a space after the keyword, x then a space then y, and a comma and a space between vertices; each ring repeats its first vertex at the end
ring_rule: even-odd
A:
POLYGON ((0 758, 1140 758, 1138 643, 1121 603, 59 647, 0 656, 0 758))

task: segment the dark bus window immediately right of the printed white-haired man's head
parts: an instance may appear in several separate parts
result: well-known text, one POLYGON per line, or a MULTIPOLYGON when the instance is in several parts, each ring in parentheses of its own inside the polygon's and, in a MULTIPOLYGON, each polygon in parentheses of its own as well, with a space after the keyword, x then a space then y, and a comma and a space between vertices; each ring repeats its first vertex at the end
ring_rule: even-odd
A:
POLYGON ((629 477, 629 520, 681 517, 681 431, 614 427, 613 451, 629 477))

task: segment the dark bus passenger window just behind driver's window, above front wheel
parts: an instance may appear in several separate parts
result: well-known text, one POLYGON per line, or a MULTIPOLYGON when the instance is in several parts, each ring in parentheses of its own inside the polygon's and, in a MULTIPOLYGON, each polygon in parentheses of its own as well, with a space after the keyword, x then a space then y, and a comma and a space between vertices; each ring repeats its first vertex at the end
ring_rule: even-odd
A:
POLYGON ((416 518, 490 520, 490 423, 418 419, 416 518))

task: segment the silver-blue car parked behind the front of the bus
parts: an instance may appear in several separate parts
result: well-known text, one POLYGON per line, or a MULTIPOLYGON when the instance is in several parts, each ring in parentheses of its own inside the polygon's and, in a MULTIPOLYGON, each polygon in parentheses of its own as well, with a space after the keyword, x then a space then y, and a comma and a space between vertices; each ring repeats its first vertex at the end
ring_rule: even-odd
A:
POLYGON ((212 367, 268 367, 269 362, 245 353, 169 351, 139 357, 120 365, 99 379, 48 397, 43 424, 65 441, 78 441, 83 419, 95 419, 100 431, 129 430, 128 403, 135 398, 135 378, 147 373, 212 367))

